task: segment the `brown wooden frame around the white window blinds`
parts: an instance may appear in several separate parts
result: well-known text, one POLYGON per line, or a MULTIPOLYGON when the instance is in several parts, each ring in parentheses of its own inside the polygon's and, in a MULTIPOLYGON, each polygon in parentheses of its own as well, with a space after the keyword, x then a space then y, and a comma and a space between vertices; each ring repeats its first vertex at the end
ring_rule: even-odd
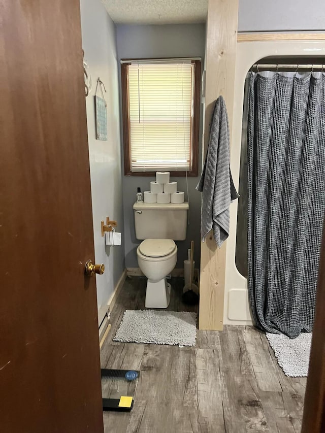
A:
MULTIPOLYGON (((122 59, 123 60, 123 59, 122 59)), ((132 61, 146 59, 127 59, 132 61)), ((166 60, 169 60, 166 58, 166 60)), ((155 176, 155 171, 132 172, 131 171, 131 138, 130 118, 128 104, 128 77, 127 66, 129 63, 121 63, 121 91, 122 91, 122 121, 123 121, 123 147, 124 147, 124 176, 155 176)), ((193 130, 191 135, 190 155, 192 157, 191 169, 187 176, 196 177, 199 172, 199 132, 200 132, 200 104, 201 104, 201 60, 191 60, 194 64, 194 104, 193 104, 193 130)), ((161 168, 161 170, 164 170, 161 168)), ((186 176, 185 171, 171 171, 171 176, 186 176)))

